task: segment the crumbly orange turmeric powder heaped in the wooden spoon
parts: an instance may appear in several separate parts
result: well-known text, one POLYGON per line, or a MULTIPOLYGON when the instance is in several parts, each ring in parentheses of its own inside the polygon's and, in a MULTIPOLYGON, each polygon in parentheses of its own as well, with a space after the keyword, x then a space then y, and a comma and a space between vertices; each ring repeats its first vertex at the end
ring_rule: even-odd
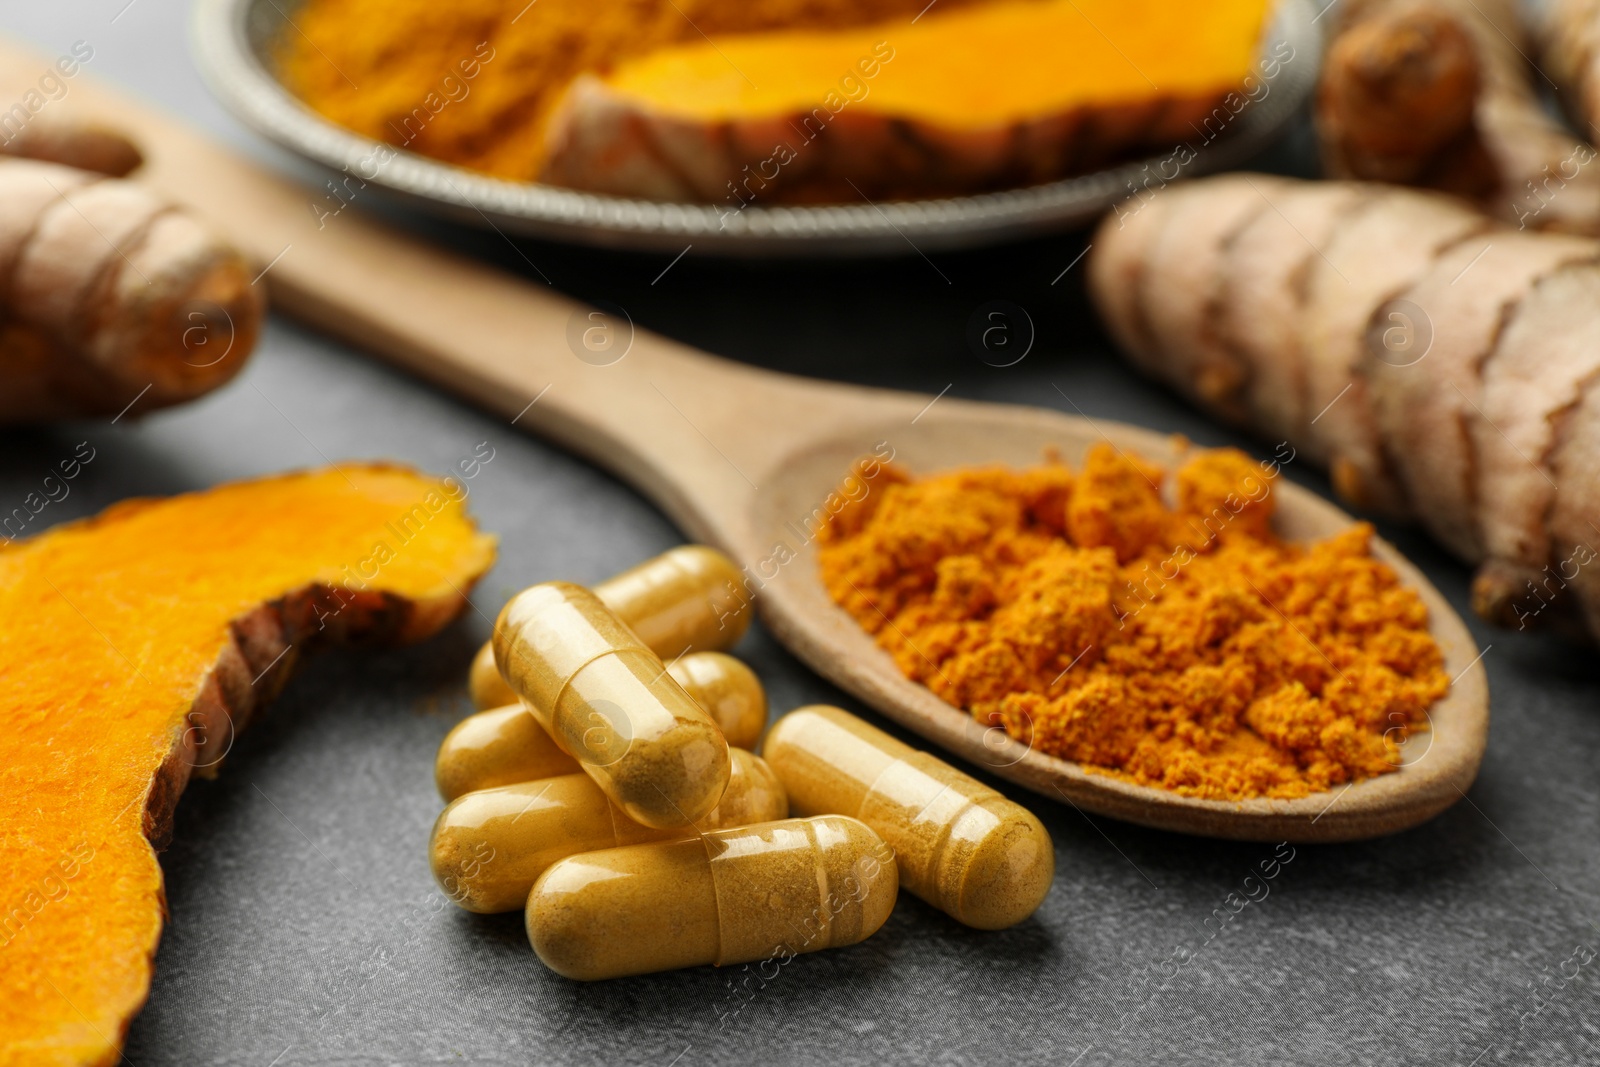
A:
POLYGON ((1354 525, 1272 533, 1277 467, 886 466, 819 531, 829 595, 912 680, 1040 752, 1210 800, 1400 766, 1450 680, 1427 608, 1354 525))

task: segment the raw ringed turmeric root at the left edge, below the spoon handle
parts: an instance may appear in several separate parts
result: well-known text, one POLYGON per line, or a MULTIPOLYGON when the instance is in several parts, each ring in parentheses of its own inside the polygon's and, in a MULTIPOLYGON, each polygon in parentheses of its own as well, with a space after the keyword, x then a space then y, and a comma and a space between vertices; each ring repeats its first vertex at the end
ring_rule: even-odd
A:
POLYGON ((0 154, 0 424, 144 413, 210 392, 256 344, 243 256, 123 174, 98 126, 34 123, 0 154))

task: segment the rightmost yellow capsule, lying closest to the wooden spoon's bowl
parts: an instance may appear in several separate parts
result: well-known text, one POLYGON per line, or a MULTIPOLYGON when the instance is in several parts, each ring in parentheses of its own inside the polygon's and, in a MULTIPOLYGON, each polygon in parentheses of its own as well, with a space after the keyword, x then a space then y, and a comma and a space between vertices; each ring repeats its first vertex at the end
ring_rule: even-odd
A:
POLYGON ((861 819, 894 849, 901 883, 968 926, 1019 923, 1050 893, 1056 853, 1032 811, 845 710, 789 712, 763 753, 794 811, 861 819))

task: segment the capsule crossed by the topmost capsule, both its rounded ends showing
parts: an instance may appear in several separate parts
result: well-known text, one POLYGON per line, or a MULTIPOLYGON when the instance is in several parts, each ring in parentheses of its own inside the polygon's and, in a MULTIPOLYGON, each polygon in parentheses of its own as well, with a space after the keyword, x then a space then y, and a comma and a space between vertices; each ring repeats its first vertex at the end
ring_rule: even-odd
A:
MULTIPOLYGON (((490 670, 506 686, 493 659, 490 670)), ((730 745, 755 749, 766 729, 766 691, 754 670, 726 653, 691 653, 667 664, 667 673, 706 709, 730 745)), ((510 686, 506 691, 510 693, 510 686)), ((445 800, 474 789, 576 771, 578 761, 550 741, 515 696, 506 707, 461 720, 438 745, 434 761, 434 781, 445 800)))

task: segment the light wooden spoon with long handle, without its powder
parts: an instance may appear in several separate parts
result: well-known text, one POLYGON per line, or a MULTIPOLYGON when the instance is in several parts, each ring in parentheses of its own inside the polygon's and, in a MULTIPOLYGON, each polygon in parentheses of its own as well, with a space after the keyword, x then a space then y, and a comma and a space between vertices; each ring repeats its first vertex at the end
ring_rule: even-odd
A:
MULTIPOLYGON (((0 46, 0 99, 43 59, 0 46)), ((1224 803, 1133 785, 1032 752, 907 681, 818 579, 808 523, 850 462, 875 448, 915 472, 1030 466, 1054 446, 1080 462, 1099 440, 1170 461, 1149 430, 1054 411, 938 400, 774 374, 717 360, 626 318, 392 234, 315 189, 272 178, 195 133, 93 85, 51 107, 130 133, 138 178, 192 205, 266 270, 282 310, 459 394, 616 472, 691 537, 731 552, 758 584, 762 617, 814 670, 968 761, 1085 811, 1243 840, 1331 841, 1416 825, 1461 798, 1488 733, 1477 648, 1450 605, 1390 545, 1378 555, 1418 589, 1456 678, 1395 774, 1302 800, 1224 803)), ((355 187, 354 182, 350 186, 355 187)), ((357 203, 360 192, 357 190, 357 203)), ((1350 518, 1278 483, 1286 537, 1350 518)))

